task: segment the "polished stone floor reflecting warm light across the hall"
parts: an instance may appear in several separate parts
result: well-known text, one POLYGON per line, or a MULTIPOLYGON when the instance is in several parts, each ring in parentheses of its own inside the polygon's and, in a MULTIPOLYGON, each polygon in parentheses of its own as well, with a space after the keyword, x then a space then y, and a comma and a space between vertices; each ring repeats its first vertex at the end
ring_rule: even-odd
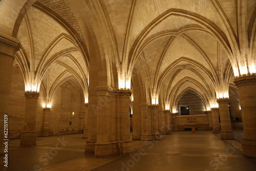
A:
POLYGON ((68 170, 256 170, 256 159, 242 155, 243 131, 234 140, 221 140, 211 131, 172 132, 159 141, 134 141, 135 152, 97 158, 84 154, 81 134, 38 137, 36 147, 9 141, 8 171, 68 170))

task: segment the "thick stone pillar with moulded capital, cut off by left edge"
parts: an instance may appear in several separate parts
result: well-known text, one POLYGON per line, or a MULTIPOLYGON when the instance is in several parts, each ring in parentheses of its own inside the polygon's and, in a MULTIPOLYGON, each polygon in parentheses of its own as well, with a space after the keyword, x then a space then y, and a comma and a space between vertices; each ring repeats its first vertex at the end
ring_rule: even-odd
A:
POLYGON ((4 116, 8 111, 13 59, 18 49, 17 39, 0 35, 0 170, 7 170, 4 166, 4 156, 2 156, 5 154, 4 139, 6 139, 4 138, 4 116))

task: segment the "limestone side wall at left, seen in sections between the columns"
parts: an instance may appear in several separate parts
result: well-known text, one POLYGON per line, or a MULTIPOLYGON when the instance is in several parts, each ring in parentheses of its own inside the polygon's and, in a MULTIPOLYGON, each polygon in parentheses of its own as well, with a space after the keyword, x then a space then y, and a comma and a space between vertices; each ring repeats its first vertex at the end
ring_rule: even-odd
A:
MULTIPOLYGON (((37 136, 42 134, 45 102, 44 89, 40 88, 40 96, 37 103, 36 130, 37 136)), ((9 139, 20 138, 23 131, 25 102, 25 84, 22 72, 18 66, 13 67, 11 90, 8 104, 8 135, 9 139)), ((84 113, 80 96, 70 81, 63 83, 56 91, 51 101, 49 135, 81 133, 84 127, 84 118, 79 113, 84 113), (72 114, 74 112, 74 115, 72 114), (82 119, 82 121, 80 121, 82 119), (70 125, 70 122, 72 124, 70 125)))

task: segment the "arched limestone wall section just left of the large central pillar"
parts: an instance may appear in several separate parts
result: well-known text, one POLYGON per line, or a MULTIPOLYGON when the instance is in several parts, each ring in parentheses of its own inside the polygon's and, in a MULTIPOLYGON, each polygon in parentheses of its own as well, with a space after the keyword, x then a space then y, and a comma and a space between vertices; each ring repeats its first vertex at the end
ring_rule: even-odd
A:
POLYGON ((58 88, 51 101, 49 135, 81 133, 80 101, 71 82, 67 81, 58 88))

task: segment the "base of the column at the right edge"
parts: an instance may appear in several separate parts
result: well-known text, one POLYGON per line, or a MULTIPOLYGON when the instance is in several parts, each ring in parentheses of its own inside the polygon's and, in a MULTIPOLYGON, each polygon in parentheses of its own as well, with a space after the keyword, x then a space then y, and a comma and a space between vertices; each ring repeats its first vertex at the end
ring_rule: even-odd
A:
POLYGON ((242 148, 244 156, 256 158, 256 140, 243 139, 242 148))

